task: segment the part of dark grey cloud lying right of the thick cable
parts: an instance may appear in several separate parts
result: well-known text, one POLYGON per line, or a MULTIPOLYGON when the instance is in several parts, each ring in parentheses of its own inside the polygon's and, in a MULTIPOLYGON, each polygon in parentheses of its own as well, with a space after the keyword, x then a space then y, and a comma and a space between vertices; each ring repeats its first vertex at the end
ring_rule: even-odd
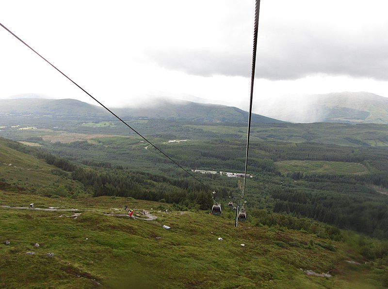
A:
POLYGON ((373 32, 345 35, 332 31, 306 31, 283 35, 263 43, 257 76, 273 80, 297 79, 314 74, 388 79, 388 41, 373 32), (302 34, 302 33, 305 34, 302 34))

